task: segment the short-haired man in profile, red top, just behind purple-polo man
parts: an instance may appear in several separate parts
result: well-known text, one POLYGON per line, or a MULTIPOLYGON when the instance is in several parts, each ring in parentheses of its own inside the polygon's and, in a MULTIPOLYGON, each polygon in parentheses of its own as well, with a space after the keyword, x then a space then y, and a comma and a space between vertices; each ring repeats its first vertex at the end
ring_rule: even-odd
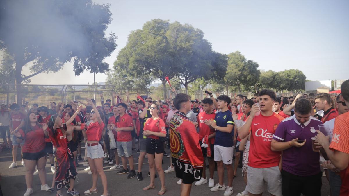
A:
POLYGON ((338 112, 333 108, 333 106, 331 106, 331 96, 328 93, 320 93, 314 99, 315 106, 318 108, 318 111, 324 111, 324 116, 321 118, 322 123, 338 116, 338 112))

